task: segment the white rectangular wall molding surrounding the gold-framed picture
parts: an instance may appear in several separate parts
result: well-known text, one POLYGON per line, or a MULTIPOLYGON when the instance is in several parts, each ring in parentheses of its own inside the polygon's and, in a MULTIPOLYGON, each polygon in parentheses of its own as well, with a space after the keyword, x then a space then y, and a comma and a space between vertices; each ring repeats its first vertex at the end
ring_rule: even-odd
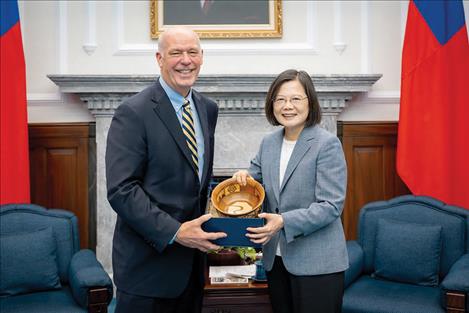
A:
MULTIPOLYGON (((307 1, 305 3, 306 9, 306 39, 303 42, 276 42, 276 43, 202 43, 205 55, 312 55, 317 54, 315 45, 315 27, 314 22, 317 8, 315 1, 307 1)), ((153 55, 158 47, 157 42, 151 44, 129 44, 125 42, 124 38, 124 2, 115 1, 116 13, 116 32, 115 42, 116 51, 114 55, 118 56, 135 56, 135 55, 153 55)), ((283 7, 285 10, 285 6, 283 7)))

